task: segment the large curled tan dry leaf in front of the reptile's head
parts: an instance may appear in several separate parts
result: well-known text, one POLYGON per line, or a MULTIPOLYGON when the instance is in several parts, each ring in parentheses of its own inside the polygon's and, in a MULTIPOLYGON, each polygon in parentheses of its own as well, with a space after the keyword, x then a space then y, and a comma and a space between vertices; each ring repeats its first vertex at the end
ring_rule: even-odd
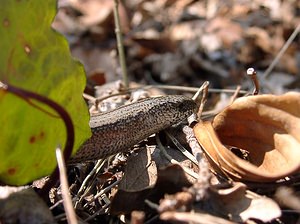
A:
POLYGON ((300 167, 300 94, 243 97, 194 128, 212 166, 234 179, 268 182, 300 167), (230 147, 241 149, 248 161, 230 147))

